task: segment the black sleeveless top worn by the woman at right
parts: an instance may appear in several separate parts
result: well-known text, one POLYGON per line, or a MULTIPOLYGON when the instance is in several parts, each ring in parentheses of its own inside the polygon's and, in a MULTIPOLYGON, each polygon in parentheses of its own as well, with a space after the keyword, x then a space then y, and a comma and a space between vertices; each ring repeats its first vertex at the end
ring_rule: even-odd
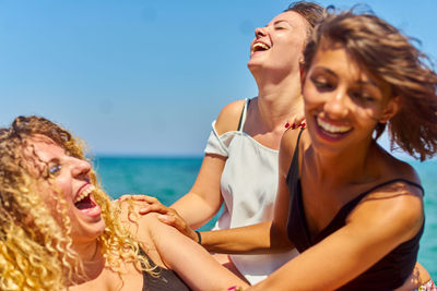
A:
MULTIPOLYGON (((387 181, 371 187, 370 190, 359 194, 351 202, 346 203, 324 229, 311 237, 306 223, 302 198, 302 184, 298 165, 298 144, 300 134, 302 131, 297 140, 293 160, 286 178, 290 192, 287 235, 290 241, 300 253, 344 227, 349 214, 367 194, 377 187, 401 181, 421 189, 422 193, 424 193, 424 190, 421 185, 404 179, 393 179, 387 181)), ((369 269, 339 290, 393 290, 398 287, 401 287, 414 269, 414 265, 417 259, 418 241, 422 237, 423 230, 424 225, 422 225, 421 230, 416 235, 414 235, 414 238, 398 245, 393 251, 382 257, 369 269)))

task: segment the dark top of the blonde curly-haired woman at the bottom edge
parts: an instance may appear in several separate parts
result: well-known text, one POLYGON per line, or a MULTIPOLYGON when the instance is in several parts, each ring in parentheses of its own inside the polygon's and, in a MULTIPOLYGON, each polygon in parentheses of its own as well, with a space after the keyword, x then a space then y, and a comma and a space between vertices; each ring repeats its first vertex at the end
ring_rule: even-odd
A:
MULTIPOLYGON (((140 251, 149 264, 154 267, 155 263, 144 253, 143 250, 140 251)), ((153 277, 146 271, 143 271, 143 289, 142 291, 189 291, 191 290, 176 272, 169 269, 161 268, 157 266, 154 269, 157 275, 153 277)))

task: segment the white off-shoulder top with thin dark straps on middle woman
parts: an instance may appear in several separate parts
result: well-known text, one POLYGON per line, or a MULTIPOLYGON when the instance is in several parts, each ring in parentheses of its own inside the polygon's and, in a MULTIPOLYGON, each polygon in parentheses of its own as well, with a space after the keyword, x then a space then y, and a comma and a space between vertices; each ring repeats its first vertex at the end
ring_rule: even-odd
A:
MULTIPOLYGON (((213 121, 204 150, 205 154, 227 157, 221 179, 225 207, 214 229, 237 228, 273 219, 279 151, 261 145, 243 131, 248 104, 246 99, 237 131, 218 135, 213 121)), ((231 255, 231 259, 241 275, 255 284, 297 254, 293 250, 268 255, 231 255)))

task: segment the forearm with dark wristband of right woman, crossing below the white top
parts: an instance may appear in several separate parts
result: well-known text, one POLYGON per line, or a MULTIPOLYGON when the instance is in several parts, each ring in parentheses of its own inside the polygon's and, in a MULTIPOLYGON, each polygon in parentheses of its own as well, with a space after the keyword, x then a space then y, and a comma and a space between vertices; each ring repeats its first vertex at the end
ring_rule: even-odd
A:
POLYGON ((292 248, 287 240, 277 240, 271 222, 201 232, 201 244, 209 252, 225 254, 265 254, 292 248))

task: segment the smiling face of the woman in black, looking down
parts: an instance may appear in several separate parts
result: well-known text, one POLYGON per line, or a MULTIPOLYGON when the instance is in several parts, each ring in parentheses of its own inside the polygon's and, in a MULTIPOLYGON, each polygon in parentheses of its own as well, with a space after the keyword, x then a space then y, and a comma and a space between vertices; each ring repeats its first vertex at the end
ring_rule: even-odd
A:
POLYGON ((388 86, 359 70, 345 49, 324 46, 305 76, 305 113, 314 146, 344 153, 341 145, 368 146, 378 122, 395 112, 388 86), (382 88, 382 89, 381 89, 382 88))

